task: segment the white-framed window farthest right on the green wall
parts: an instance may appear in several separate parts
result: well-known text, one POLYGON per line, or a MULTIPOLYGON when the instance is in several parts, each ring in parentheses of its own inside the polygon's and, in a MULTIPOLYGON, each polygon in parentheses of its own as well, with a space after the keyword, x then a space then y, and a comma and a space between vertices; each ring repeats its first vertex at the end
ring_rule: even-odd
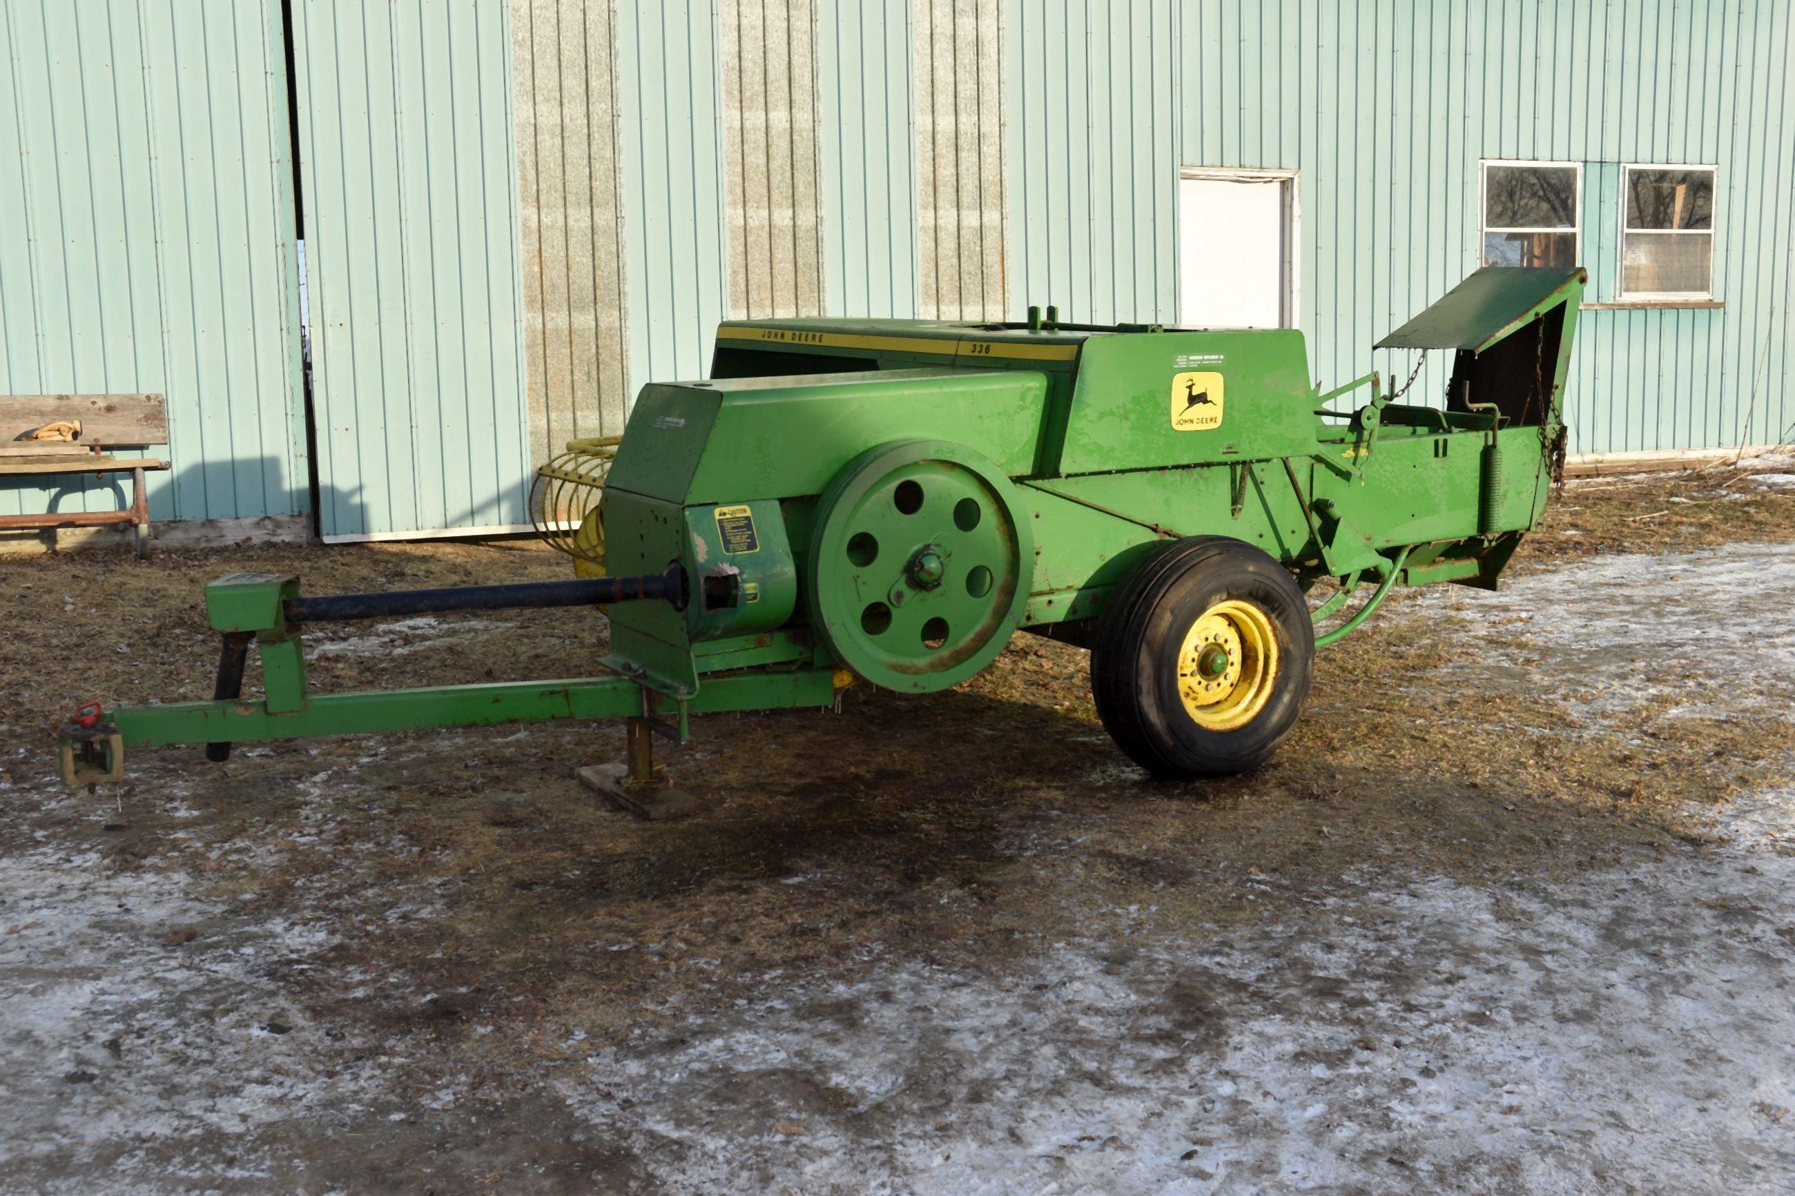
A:
POLYGON ((1621 167, 1621 299, 1714 294, 1716 167, 1621 167))

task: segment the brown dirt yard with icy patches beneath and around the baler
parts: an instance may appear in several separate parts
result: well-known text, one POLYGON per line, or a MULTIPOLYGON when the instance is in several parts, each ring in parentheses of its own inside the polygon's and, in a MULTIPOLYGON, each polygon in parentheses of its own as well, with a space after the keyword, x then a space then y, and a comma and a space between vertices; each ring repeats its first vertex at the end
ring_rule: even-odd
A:
MULTIPOLYGON (((707 717, 646 825, 542 724, 133 753, 201 585, 526 543, 0 559, 0 1191, 1795 1187, 1795 461, 1572 482, 1398 595, 1278 758, 1151 784, 1084 656, 707 717)), ((318 689, 578 674, 596 611, 339 626, 318 689)), ((251 674, 251 685, 255 683, 251 674)))

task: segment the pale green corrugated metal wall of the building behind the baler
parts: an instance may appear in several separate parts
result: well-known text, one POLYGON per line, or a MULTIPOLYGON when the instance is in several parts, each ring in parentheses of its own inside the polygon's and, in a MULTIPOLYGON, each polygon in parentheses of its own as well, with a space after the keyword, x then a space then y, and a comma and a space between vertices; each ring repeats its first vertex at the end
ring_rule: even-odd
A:
MULTIPOLYGON (((547 178, 540 154, 528 178, 565 192, 565 230, 619 226, 603 303, 626 326, 626 360, 607 362, 625 393, 702 375, 729 314, 729 178, 754 174, 741 158, 761 138, 747 109, 725 127, 734 47, 738 82, 774 66, 817 79, 822 194, 801 215, 820 228, 793 237, 822 247, 826 312, 923 314, 924 273, 964 273, 966 230, 989 230, 994 201, 1007 246, 975 265, 980 289, 1000 271, 1011 316, 1055 301, 1079 319, 1170 319, 1179 170, 1291 169, 1316 375, 1402 373, 1404 355, 1373 360, 1368 346, 1475 267, 1479 160, 1581 161, 1598 308, 1580 325, 1572 448, 1795 434, 1788 4, 1003 0, 993 111, 994 2, 756 0, 765 20, 808 22, 783 41, 725 39, 718 22, 740 4, 603 5, 614 22, 576 48, 601 68, 609 48, 612 74, 553 95, 533 81, 531 117, 555 120, 567 95, 603 84, 617 203, 574 213, 569 167, 547 178), (964 22, 976 39, 955 32, 964 22), (933 30, 923 47, 919 30, 933 30), (790 61, 741 59, 774 41, 790 61), (971 90, 962 66, 978 72, 971 90), (1721 307, 1605 307, 1623 161, 1720 165, 1721 307), (933 258, 924 192, 957 230, 932 240, 933 258)), ((531 56, 546 5, 531 0, 531 56)), ((325 531, 519 524, 530 438, 547 434, 524 400, 522 328, 547 292, 521 283, 510 4, 294 9, 325 531)), ((0 387, 163 391, 178 472, 156 486, 158 518, 305 509, 280 38, 276 0, 0 0, 0 161, 20 163, 0 176, 0 387)), ((801 99, 793 82, 784 100, 801 99)), ((1418 394, 1438 393, 1443 366, 1418 394)), ((544 357, 544 403, 549 375, 574 368, 544 357)), ((0 509, 48 500, 0 488, 0 509)))

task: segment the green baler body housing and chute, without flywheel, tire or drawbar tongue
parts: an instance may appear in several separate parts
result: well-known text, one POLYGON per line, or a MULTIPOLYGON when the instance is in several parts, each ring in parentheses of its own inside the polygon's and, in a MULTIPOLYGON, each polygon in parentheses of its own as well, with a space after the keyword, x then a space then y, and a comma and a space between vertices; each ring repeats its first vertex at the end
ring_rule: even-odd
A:
MULTIPOLYGON (((1551 317, 1529 360, 1556 396, 1580 273, 1479 280, 1486 310, 1436 325, 1432 339, 1474 369, 1479 344, 1510 344, 1551 317)), ((637 398, 605 486, 607 568, 648 574, 679 561, 698 577, 727 561, 754 601, 723 611, 617 606, 609 663, 675 696, 720 669, 833 663, 806 631, 811 583, 801 574, 815 506, 854 457, 889 441, 964 445, 1014 482, 1034 543, 1023 628, 1054 633, 1048 624, 1100 615, 1154 545, 1197 534, 1258 545, 1309 577, 1375 570, 1407 549, 1404 583, 1492 586, 1544 511, 1556 405, 1501 429, 1472 411, 1386 405, 1371 432, 1318 414, 1321 400, 1303 337, 1289 330, 725 323, 711 380, 652 384, 637 398), (1217 377, 1219 411, 1179 427, 1192 378, 1213 387, 1217 377), (1492 439, 1508 463, 1493 477, 1492 439), (729 552, 718 509, 741 506, 754 547, 729 552)), ((853 565, 840 568, 851 581, 853 565)))

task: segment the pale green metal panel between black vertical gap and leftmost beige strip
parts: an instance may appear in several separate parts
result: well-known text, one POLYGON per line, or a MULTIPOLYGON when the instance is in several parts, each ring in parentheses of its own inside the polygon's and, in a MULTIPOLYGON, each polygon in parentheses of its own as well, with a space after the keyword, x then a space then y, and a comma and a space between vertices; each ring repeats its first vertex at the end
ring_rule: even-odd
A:
POLYGON ((327 540, 528 525, 510 4, 298 0, 327 540))

